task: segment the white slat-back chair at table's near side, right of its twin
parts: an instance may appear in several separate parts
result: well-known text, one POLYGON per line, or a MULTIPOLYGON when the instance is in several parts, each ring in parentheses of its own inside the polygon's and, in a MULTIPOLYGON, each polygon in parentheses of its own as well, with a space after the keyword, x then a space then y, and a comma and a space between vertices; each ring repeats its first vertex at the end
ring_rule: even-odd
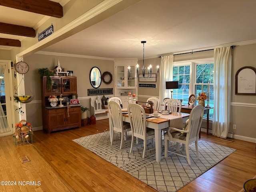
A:
MULTIPOLYGON (((145 113, 145 110, 142 108, 142 106, 136 103, 129 104, 127 110, 128 110, 128 116, 130 119, 131 128, 132 128, 132 144, 131 144, 130 153, 132 152, 134 137, 140 138, 144 142, 144 145, 143 145, 144 149, 143 149, 143 155, 142 155, 142 158, 144 158, 146 154, 147 140, 155 137, 154 129, 146 127, 146 113, 145 113)), ((155 149, 155 148, 152 148, 152 149, 155 149)))

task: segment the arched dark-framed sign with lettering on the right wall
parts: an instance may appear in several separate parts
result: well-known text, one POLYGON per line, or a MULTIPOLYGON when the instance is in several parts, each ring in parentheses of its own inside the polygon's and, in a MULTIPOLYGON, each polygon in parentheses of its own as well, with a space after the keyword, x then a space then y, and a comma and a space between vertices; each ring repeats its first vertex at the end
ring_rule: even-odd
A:
POLYGON ((236 72, 236 95, 256 95, 256 68, 245 66, 236 72))

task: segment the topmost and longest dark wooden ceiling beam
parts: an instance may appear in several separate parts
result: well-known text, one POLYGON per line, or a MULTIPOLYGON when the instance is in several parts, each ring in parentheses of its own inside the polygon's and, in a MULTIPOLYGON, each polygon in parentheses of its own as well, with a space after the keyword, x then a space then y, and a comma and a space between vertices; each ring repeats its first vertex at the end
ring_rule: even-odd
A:
POLYGON ((62 18, 62 6, 50 0, 0 0, 0 5, 28 12, 62 18))

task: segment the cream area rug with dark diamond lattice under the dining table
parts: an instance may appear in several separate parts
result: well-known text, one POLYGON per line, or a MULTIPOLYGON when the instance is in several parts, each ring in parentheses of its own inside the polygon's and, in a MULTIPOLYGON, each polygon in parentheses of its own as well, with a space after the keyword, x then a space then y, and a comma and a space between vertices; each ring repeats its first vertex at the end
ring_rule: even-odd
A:
MULTIPOLYGON (((191 165, 188 165, 186 158, 170 153, 168 158, 162 158, 160 162, 156 162, 155 150, 146 152, 145 158, 142 159, 142 140, 139 140, 137 145, 134 144, 133 150, 130 153, 130 132, 128 132, 128 139, 124 142, 122 150, 120 150, 118 133, 114 134, 112 146, 110 145, 109 132, 102 132, 74 139, 73 141, 159 192, 175 192, 179 190, 235 151, 233 148, 199 140, 198 150, 200 159, 197 159, 196 152, 194 152, 196 150, 195 144, 191 143, 189 147, 194 151, 190 151, 191 165)), ((148 149, 154 148, 154 142, 150 143, 150 140, 148 140, 147 143, 148 149)), ((164 157, 164 140, 162 144, 161 155, 164 157)), ((180 146, 182 147, 182 145, 180 146)), ((176 150, 175 142, 170 142, 169 150, 176 150)), ((186 154, 183 150, 180 150, 180 153, 186 154)))

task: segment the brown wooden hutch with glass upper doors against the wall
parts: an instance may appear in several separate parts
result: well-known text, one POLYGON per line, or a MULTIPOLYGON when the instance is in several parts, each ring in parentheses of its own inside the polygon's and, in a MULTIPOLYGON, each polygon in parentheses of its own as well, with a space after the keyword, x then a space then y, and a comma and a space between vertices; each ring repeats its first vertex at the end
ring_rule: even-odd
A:
POLYGON ((50 89, 48 89, 48 80, 44 76, 41 81, 42 88, 42 116, 43 128, 47 133, 52 131, 64 130, 68 128, 81 127, 81 106, 50 107, 48 97, 55 95, 57 97, 77 94, 76 76, 51 76, 50 89))

